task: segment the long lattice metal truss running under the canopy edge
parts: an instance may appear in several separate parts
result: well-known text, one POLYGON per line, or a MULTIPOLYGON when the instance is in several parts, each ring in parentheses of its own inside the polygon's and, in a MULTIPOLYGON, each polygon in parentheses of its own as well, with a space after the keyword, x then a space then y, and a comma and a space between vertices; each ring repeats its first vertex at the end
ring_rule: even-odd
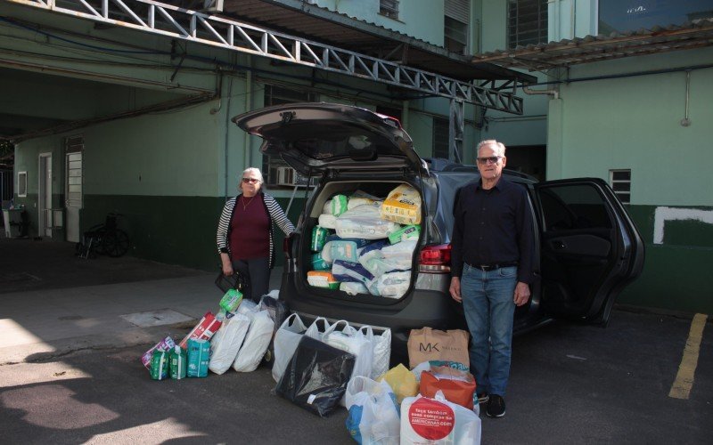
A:
MULTIPOLYGON (((0 0, 133 28, 239 53, 359 77, 419 93, 473 103, 521 115, 522 98, 512 80, 478 83, 440 76, 422 69, 288 36, 236 20, 191 11, 152 0, 0 0)), ((457 124, 456 124, 457 125, 457 124)), ((455 132, 458 133, 457 130, 455 132)))

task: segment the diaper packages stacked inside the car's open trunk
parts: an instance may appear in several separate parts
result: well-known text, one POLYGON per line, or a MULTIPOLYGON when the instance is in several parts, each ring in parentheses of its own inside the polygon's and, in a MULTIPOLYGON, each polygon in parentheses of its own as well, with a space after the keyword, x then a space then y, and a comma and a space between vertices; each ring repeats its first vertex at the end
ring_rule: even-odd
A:
POLYGON ((411 282, 421 232, 421 195, 401 184, 382 200, 357 190, 334 195, 312 231, 311 286, 400 298, 411 282))

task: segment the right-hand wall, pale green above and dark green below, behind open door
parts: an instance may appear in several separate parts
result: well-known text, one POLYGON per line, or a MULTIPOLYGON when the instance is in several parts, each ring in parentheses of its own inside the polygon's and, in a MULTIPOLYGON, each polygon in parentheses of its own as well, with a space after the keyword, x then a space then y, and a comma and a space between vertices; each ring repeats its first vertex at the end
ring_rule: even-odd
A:
POLYGON ((629 210, 647 247, 646 262, 620 303, 713 312, 706 279, 713 263, 713 69, 691 71, 689 126, 681 125, 685 71, 636 75, 712 58, 707 48, 572 67, 571 79, 616 78, 561 85, 561 99, 550 101, 549 179, 608 179, 611 169, 631 169, 629 210), (674 217, 660 216, 657 226, 657 212, 674 217))

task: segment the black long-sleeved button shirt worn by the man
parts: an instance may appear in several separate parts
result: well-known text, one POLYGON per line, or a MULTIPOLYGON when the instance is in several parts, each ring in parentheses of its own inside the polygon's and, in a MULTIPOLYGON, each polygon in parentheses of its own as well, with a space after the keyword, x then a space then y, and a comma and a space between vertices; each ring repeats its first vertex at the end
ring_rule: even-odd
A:
POLYGON ((534 279, 535 231, 527 190, 501 177, 484 190, 481 182, 460 190, 453 209, 451 273, 461 277, 463 263, 518 263, 518 281, 534 279))

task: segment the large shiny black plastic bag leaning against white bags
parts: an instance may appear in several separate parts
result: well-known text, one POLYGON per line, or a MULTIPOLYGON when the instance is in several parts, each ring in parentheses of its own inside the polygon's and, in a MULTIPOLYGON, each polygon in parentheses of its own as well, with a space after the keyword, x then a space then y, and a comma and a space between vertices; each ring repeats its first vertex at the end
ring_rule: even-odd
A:
POLYGON ((354 354, 303 336, 275 386, 275 393, 326 417, 347 392, 355 359, 354 354))

